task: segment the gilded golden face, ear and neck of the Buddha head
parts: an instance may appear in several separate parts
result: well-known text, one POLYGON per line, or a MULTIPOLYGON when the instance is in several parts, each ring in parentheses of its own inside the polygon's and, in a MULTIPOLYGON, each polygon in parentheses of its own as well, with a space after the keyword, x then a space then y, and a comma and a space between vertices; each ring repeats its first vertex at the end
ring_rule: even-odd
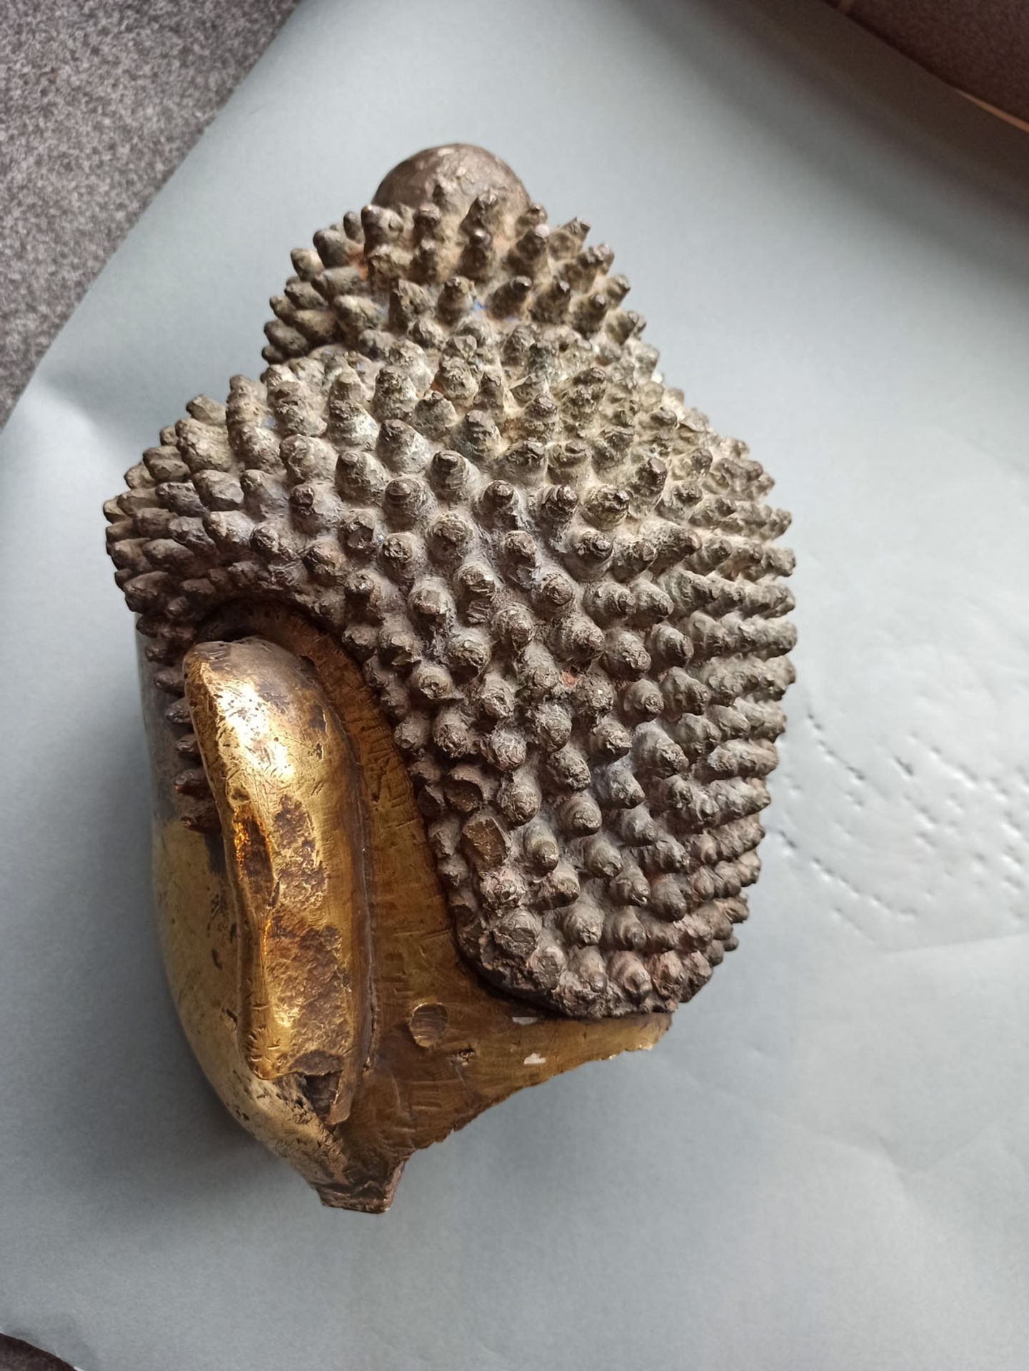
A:
MULTIPOLYGON (((211 632, 249 635, 204 642, 186 666, 223 843, 158 818, 164 957, 215 1090, 326 1204, 384 1209, 415 1149, 660 1038, 666 1015, 580 1023, 475 978, 356 668, 281 610, 232 611, 211 632)), ((169 808, 163 731, 151 740, 169 808)))

